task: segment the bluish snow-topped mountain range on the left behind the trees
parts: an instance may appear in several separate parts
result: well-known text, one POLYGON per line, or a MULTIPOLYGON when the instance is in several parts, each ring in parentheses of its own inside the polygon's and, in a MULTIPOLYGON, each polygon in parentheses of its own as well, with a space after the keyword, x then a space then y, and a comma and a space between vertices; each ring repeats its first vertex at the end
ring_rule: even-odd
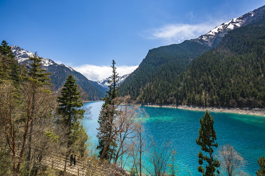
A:
MULTIPOLYGON (((14 52, 15 59, 23 64, 28 62, 28 56, 32 56, 33 53, 26 51, 19 46, 11 46, 14 52)), ((97 101, 101 100, 106 94, 106 88, 97 84, 97 82, 88 80, 81 73, 75 71, 70 66, 65 66, 64 64, 57 64, 51 59, 43 58, 42 67, 47 70, 47 72, 52 72, 50 76, 52 89, 55 92, 59 92, 63 87, 68 75, 72 74, 76 83, 79 85, 79 90, 82 92, 82 98, 84 101, 97 101)))

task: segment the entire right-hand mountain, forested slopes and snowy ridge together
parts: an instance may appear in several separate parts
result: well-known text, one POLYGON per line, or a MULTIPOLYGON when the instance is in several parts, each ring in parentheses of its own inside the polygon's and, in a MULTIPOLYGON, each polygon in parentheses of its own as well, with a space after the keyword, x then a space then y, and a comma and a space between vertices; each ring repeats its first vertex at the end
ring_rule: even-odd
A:
POLYGON ((120 95, 131 95, 143 104, 264 106, 265 79, 260 77, 265 74, 264 24, 261 23, 261 27, 250 25, 264 19, 265 6, 223 23, 197 39, 149 50, 139 67, 121 84, 120 95), (241 29, 244 26, 248 27, 241 29), (251 27, 253 31, 249 29, 251 27), (240 37, 238 32, 233 33, 237 28, 244 35, 240 37), (230 31, 232 34, 222 41, 230 31), (223 55, 215 57, 219 52, 223 55), (225 60, 226 57, 229 60, 225 60), (212 61, 213 58, 217 60, 212 61), (220 58, 225 60, 227 68, 219 63, 220 58), (195 71, 198 68, 200 71, 195 71))

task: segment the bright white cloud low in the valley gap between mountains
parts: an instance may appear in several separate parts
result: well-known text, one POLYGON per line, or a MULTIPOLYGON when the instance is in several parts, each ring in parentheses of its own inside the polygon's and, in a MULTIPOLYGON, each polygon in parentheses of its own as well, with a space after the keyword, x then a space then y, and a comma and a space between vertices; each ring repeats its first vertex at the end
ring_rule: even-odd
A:
MULTIPOLYGON (((138 66, 116 66, 119 76, 123 76, 128 73, 132 73, 138 66)), ((73 69, 83 74, 87 79, 92 81, 98 81, 105 79, 111 75, 110 66, 94 66, 94 65, 82 65, 72 66, 73 69)))

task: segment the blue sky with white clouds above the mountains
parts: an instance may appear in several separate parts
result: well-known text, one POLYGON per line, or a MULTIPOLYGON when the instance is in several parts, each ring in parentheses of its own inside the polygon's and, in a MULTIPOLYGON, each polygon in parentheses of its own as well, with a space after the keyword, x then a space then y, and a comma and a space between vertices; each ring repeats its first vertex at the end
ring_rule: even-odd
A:
POLYGON ((0 0, 0 40, 91 80, 133 71, 149 49, 197 38, 265 0, 0 0))

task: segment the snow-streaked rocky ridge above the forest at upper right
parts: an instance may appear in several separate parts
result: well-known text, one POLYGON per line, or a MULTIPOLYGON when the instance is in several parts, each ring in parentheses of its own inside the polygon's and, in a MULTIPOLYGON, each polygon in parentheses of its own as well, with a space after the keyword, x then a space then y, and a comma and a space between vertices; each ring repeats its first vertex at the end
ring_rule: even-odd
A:
POLYGON ((229 22, 225 22, 214 29, 212 29, 207 34, 204 34, 197 39, 192 39, 193 41, 205 44, 211 47, 215 47, 220 43, 222 38, 231 30, 236 29, 240 26, 247 25, 251 22, 256 22, 265 17, 265 5, 248 12, 238 18, 232 19, 229 22))

